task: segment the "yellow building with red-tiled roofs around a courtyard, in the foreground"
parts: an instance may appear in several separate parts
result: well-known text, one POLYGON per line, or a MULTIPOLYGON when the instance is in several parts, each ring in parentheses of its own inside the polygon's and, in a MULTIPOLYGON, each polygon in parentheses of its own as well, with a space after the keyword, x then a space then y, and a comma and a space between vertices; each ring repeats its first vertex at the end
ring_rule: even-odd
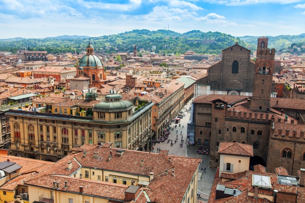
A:
POLYGON ((199 158, 83 145, 24 184, 29 202, 197 202, 199 158), (187 166, 187 167, 185 167, 187 166))

